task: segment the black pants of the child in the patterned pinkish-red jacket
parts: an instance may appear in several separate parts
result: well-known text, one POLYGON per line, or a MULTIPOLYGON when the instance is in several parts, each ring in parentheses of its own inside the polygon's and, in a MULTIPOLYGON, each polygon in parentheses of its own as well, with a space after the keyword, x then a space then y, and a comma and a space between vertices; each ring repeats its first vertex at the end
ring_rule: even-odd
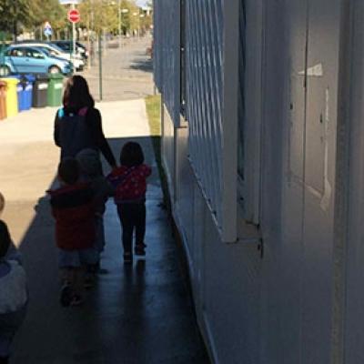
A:
POLYGON ((144 243, 146 235, 146 204, 117 205, 117 214, 123 227, 124 253, 131 252, 133 248, 133 233, 136 230, 136 245, 144 243))

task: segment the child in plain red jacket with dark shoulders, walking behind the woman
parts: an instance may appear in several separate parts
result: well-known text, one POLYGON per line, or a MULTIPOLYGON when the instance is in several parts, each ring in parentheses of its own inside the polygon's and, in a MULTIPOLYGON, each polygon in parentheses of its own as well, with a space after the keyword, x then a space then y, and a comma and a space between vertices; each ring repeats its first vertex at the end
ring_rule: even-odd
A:
POLYGON ((61 290, 63 306, 82 303, 84 270, 94 257, 94 193, 88 183, 79 182, 80 167, 75 158, 65 158, 58 166, 61 187, 49 191, 56 219, 59 268, 64 273, 61 290))

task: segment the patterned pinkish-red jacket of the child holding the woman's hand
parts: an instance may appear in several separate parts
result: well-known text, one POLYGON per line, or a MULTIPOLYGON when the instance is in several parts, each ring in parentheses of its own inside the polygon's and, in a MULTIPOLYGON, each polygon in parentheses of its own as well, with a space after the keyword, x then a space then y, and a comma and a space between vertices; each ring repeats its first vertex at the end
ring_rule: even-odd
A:
POLYGON ((146 198, 147 177, 151 173, 152 169, 147 165, 121 166, 111 172, 107 179, 115 187, 116 204, 137 202, 146 198))

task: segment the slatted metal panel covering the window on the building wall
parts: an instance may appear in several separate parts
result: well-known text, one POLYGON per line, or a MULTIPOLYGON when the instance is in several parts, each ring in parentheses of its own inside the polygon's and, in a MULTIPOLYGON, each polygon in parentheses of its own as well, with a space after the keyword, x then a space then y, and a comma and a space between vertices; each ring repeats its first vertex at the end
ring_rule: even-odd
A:
POLYGON ((187 105, 190 157, 217 218, 221 208, 221 1, 187 1, 187 105), (207 35, 208 34, 208 35, 207 35))

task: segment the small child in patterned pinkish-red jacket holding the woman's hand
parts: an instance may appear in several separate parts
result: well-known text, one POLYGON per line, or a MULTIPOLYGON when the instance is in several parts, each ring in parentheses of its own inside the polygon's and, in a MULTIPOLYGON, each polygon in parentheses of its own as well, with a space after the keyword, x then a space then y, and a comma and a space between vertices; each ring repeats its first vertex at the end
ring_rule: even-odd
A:
POLYGON ((145 256, 146 191, 151 168, 144 164, 144 154, 136 142, 128 142, 120 153, 120 167, 107 177, 115 187, 117 214, 123 227, 124 262, 133 261, 133 232, 136 232, 135 254, 145 256))

